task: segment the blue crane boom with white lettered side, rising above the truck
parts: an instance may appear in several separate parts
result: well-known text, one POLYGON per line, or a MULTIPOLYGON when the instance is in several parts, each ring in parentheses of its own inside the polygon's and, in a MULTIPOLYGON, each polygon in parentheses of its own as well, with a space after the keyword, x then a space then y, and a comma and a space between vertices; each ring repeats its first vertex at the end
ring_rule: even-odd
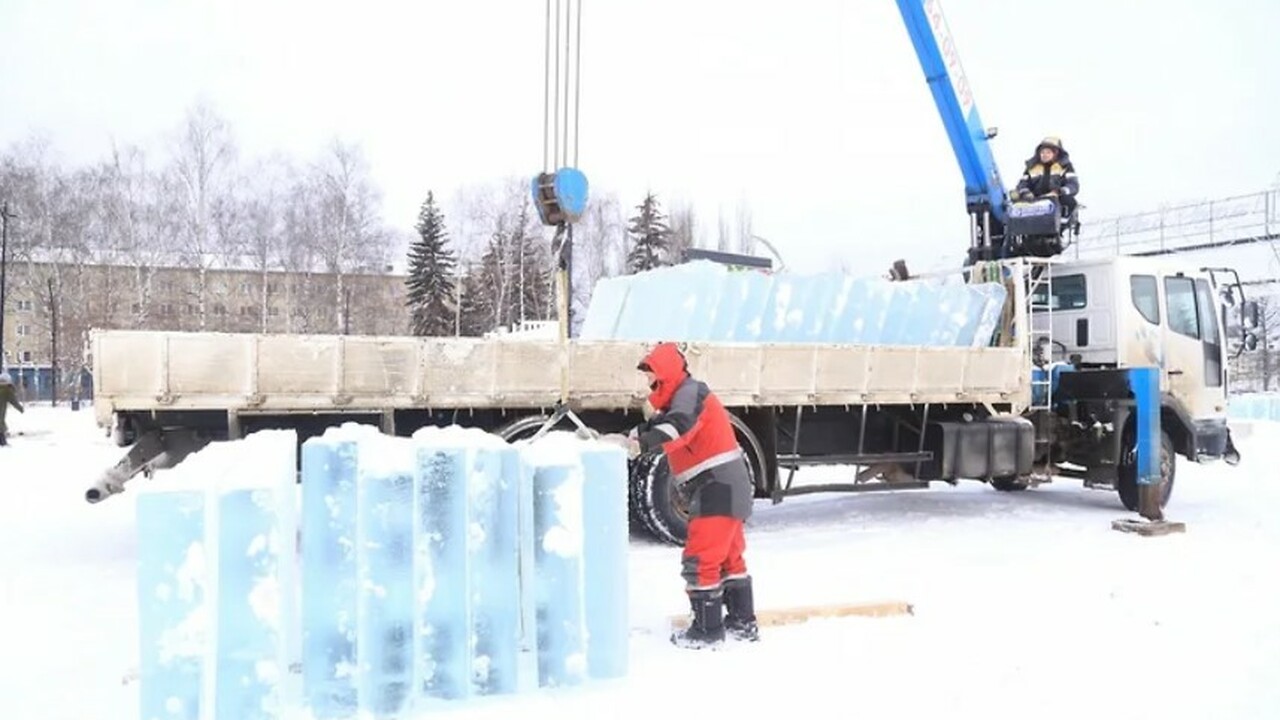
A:
POLYGON ((897 0, 897 8, 960 164, 966 208, 970 213, 987 208, 991 217, 1004 224, 1005 183, 1000 179, 987 128, 978 115, 942 6, 938 0, 897 0))

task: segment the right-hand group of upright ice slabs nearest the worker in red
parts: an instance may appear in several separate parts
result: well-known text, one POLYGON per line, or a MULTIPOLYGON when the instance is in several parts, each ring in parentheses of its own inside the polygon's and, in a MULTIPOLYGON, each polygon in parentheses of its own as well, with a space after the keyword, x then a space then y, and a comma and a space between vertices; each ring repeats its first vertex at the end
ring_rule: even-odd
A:
POLYGON ((303 445, 302 475, 302 669, 316 719, 626 671, 620 448, 344 425, 303 445))

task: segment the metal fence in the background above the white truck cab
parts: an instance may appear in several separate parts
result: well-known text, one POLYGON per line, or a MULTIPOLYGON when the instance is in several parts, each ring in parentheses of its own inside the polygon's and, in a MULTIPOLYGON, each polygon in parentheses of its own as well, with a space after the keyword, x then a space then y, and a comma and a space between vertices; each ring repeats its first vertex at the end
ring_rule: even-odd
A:
POLYGON ((1156 255, 1280 237, 1280 188, 1166 206, 1082 224, 1075 258, 1156 255))

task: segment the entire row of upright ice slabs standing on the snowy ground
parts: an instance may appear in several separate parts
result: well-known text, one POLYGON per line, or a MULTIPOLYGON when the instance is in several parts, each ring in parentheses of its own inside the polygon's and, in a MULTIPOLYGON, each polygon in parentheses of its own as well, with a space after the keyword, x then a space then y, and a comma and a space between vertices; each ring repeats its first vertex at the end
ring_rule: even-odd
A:
POLYGON ((398 717, 626 674, 621 448, 347 424, 302 445, 301 515, 296 468, 292 432, 256 433, 140 495, 143 719, 398 717))

